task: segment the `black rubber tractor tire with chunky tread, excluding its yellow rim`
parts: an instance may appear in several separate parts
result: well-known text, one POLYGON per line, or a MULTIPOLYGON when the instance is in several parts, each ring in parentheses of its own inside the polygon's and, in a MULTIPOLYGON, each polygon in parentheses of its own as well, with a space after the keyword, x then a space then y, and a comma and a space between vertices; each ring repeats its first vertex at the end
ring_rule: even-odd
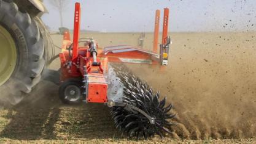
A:
POLYGON ((46 60, 54 54, 53 50, 45 49, 48 41, 44 38, 48 36, 40 31, 44 29, 42 25, 39 18, 31 18, 25 11, 21 12, 14 2, 0 0, 0 26, 9 32, 17 51, 15 69, 9 79, 0 85, 1 103, 19 103, 24 94, 31 92, 41 80, 46 60))

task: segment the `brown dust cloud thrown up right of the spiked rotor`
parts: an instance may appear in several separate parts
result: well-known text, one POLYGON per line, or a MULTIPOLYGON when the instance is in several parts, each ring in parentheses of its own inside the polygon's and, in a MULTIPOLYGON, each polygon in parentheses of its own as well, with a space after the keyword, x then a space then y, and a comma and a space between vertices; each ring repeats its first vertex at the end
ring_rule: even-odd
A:
POLYGON ((177 112, 177 139, 256 135, 256 33, 171 34, 169 66, 129 65, 177 112))

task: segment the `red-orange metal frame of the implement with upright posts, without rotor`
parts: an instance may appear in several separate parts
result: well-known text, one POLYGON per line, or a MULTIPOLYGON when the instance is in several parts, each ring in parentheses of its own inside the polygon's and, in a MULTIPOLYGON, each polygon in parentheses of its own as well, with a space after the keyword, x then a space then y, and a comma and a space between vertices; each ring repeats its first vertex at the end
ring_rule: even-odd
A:
MULTIPOLYGON (((87 79, 87 94, 86 101, 90 103, 106 103, 107 102, 107 87, 108 84, 104 77, 107 73, 109 62, 122 63, 145 63, 159 64, 158 58, 158 33, 160 10, 156 11, 155 16, 155 33, 153 52, 146 49, 137 48, 134 46, 120 45, 110 46, 104 49, 98 48, 98 44, 94 40, 88 40, 87 44, 79 47, 80 33, 80 16, 81 8, 79 2, 76 3, 74 13, 74 35, 73 41, 70 40, 69 32, 64 32, 62 51, 59 54, 61 61, 61 81, 66 81, 70 78, 81 77, 87 79), (96 48, 95 48, 96 47, 96 48), (72 48, 72 49, 71 49, 72 48), (97 56, 93 59, 93 53, 97 52, 97 56), (70 57, 69 52, 72 56, 70 57), (95 62, 96 61, 96 62, 95 62)), ((168 16, 169 9, 165 9, 164 26, 163 26, 163 41, 166 43, 168 35, 168 16)), ((162 50, 162 49, 161 49, 162 50)))

